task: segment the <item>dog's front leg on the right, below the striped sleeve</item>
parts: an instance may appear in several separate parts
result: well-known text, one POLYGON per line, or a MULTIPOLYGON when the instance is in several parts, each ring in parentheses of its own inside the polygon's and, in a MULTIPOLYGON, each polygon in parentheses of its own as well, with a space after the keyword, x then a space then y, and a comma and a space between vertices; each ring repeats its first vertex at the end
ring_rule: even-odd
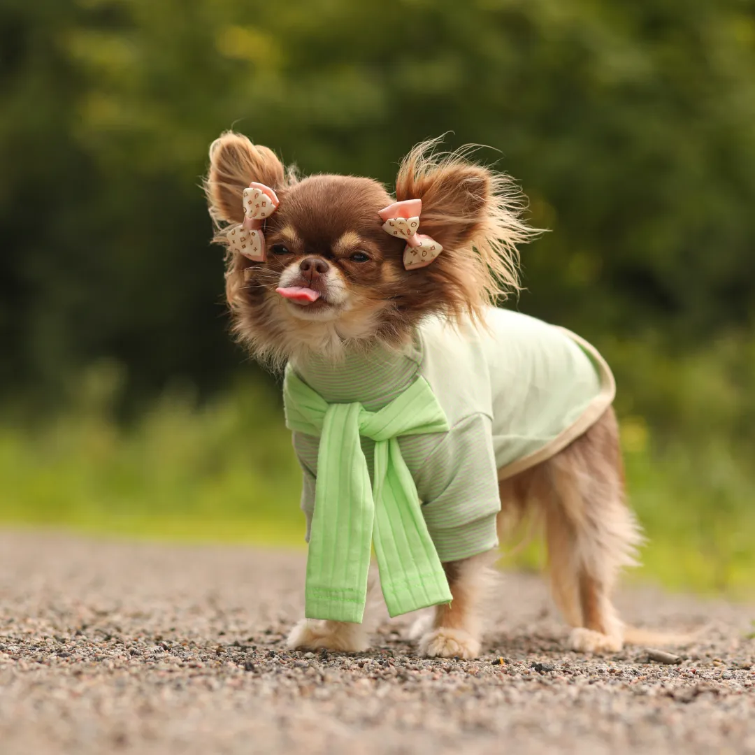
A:
POLYGON ((420 638, 421 653, 430 658, 476 658, 479 655, 479 604, 491 572, 492 557, 491 553, 482 553, 443 564, 453 600, 436 607, 430 631, 420 638))

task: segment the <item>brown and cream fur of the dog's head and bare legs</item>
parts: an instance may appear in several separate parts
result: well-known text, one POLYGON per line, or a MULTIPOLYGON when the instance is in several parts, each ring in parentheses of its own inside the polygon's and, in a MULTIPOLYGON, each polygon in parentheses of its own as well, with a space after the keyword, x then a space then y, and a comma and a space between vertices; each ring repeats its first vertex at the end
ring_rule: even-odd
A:
MULTIPOLYGON (((384 186, 368 178, 317 175, 299 179, 267 147, 223 134, 210 148, 205 189, 217 234, 240 223, 242 191, 251 181, 278 194, 267 220, 267 261, 227 258, 227 299, 233 328, 251 353, 273 367, 307 352, 337 362, 350 349, 376 342, 400 347, 422 319, 479 318, 482 309, 518 287, 516 245, 532 236, 520 219, 515 184, 464 154, 434 155, 435 142, 416 147, 402 162, 396 200, 421 199, 421 230, 443 246, 430 266, 404 270, 404 242, 381 228, 377 211, 390 202, 384 186), (357 256, 353 258, 353 255, 357 256), (364 260, 361 254, 366 254, 364 260), (300 269, 304 257, 325 260, 322 275, 300 269), (361 260, 361 261, 360 261, 361 260), (276 287, 306 285, 321 294, 300 307, 276 287)), ((544 521, 553 595, 574 627, 572 647, 617 651, 624 628, 610 593, 618 570, 635 562, 641 540, 624 504, 624 480, 613 410, 557 455, 501 482, 501 535, 507 524, 537 511, 544 521)), ((431 656, 473 658, 480 648, 481 590, 490 554, 446 563, 449 606, 436 609, 420 638, 431 656)), ((362 650, 358 624, 302 621, 289 637, 294 647, 362 650)))

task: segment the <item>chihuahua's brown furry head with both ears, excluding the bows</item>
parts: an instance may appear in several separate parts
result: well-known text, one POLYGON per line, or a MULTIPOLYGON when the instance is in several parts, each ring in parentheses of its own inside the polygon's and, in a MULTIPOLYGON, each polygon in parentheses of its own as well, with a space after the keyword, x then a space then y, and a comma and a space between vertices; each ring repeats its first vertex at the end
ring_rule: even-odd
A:
POLYGON ((406 269, 405 240, 383 227, 380 211, 394 200, 381 183, 299 180, 270 149, 240 134, 214 141, 205 187, 217 242, 229 245, 233 229, 243 233, 236 224, 245 219, 250 183, 279 202, 257 223, 263 260, 229 245, 234 329, 255 356, 280 363, 308 349, 337 358, 350 345, 398 345, 424 316, 475 317, 516 288, 515 245, 532 233, 519 220, 519 191, 458 154, 431 155, 432 146, 416 147, 402 162, 396 199, 421 200, 419 230, 442 252, 427 267, 406 269))

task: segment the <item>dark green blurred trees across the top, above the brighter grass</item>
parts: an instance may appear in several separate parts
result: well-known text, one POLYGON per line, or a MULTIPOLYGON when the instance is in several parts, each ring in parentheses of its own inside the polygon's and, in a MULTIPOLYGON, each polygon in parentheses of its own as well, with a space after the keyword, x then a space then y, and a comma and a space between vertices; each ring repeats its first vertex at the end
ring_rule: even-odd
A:
POLYGON ((425 137, 490 145, 553 231, 519 307, 692 350, 752 324, 753 122, 750 0, 2 0, 0 382, 227 378, 198 184, 232 125, 387 183, 425 137))

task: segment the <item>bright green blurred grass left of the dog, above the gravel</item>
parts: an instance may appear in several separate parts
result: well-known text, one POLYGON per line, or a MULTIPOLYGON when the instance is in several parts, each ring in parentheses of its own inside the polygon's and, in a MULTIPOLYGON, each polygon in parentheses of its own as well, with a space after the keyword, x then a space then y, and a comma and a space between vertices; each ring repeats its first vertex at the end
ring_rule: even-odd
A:
POLYGON ((0 429, 3 518, 91 532, 301 544, 300 471, 280 407, 251 385, 196 406, 174 390, 125 428, 122 373, 97 365, 82 399, 38 427, 0 429))

